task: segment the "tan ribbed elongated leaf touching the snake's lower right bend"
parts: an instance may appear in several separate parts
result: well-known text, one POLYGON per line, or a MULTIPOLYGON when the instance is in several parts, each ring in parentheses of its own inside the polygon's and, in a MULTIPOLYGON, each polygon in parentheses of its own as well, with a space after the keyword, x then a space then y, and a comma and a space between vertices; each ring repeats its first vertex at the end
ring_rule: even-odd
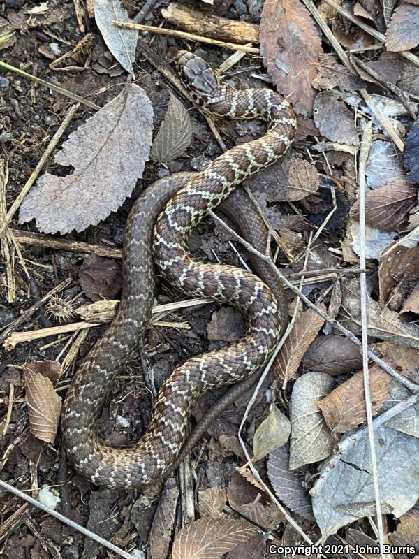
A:
MULTIPOLYGON (((325 311, 325 305, 318 305, 325 311)), ((295 379, 297 369, 307 348, 313 342, 324 320, 314 310, 307 309, 297 318, 294 328, 285 340, 284 346, 272 365, 275 377, 286 384, 288 379, 295 379)))

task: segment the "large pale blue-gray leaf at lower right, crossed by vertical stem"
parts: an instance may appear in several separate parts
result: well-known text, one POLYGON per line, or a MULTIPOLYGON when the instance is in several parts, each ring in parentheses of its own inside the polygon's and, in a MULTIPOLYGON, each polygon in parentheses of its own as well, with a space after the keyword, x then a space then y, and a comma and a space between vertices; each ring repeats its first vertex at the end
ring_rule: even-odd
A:
MULTIPOLYGON (((396 517, 408 511, 419 497, 419 439, 382 426, 375 430, 378 485, 383 510, 396 517)), ((362 437, 311 490, 313 511, 323 539, 342 526, 372 514, 374 485, 369 438, 362 437)))

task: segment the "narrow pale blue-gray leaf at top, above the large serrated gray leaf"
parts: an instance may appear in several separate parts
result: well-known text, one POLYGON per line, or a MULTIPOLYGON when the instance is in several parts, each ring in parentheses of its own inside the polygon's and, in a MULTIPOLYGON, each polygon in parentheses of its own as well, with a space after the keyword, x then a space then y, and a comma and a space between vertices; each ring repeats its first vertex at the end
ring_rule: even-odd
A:
POLYGON ((122 68, 134 77, 133 62, 137 47, 137 29, 125 29, 112 25, 113 21, 131 22, 120 0, 95 0, 94 18, 103 41, 122 68))

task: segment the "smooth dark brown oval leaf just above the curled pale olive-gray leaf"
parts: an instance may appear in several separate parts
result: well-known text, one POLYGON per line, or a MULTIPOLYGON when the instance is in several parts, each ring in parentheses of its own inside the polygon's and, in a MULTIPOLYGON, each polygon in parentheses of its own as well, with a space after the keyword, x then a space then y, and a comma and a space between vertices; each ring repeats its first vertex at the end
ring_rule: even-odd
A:
POLYGON ((307 349, 302 364, 304 369, 342 375, 360 370, 362 356, 358 347, 347 337, 331 334, 316 337, 307 349))

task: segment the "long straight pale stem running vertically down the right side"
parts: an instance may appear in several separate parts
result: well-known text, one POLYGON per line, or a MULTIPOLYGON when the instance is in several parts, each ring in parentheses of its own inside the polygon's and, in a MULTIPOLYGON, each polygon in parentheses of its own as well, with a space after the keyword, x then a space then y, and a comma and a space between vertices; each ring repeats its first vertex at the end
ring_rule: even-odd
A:
MULTIPOLYGON (((367 266, 365 258, 365 167, 369 150, 372 143, 372 122, 367 122, 362 134, 359 161, 359 189, 358 199, 360 201, 360 268, 367 266)), ((369 437, 369 452, 371 460, 372 482, 374 485, 374 498, 376 505, 378 539, 380 542, 381 559, 384 559, 383 545, 383 517, 381 512, 380 486, 378 484, 377 458, 374 441, 374 429, 372 427, 371 393, 369 391, 369 368, 368 368, 368 317, 367 317, 367 276, 365 272, 360 273, 360 305, 361 305, 361 340, 362 340, 362 372, 364 377, 365 410, 367 414, 367 428, 369 437)))

